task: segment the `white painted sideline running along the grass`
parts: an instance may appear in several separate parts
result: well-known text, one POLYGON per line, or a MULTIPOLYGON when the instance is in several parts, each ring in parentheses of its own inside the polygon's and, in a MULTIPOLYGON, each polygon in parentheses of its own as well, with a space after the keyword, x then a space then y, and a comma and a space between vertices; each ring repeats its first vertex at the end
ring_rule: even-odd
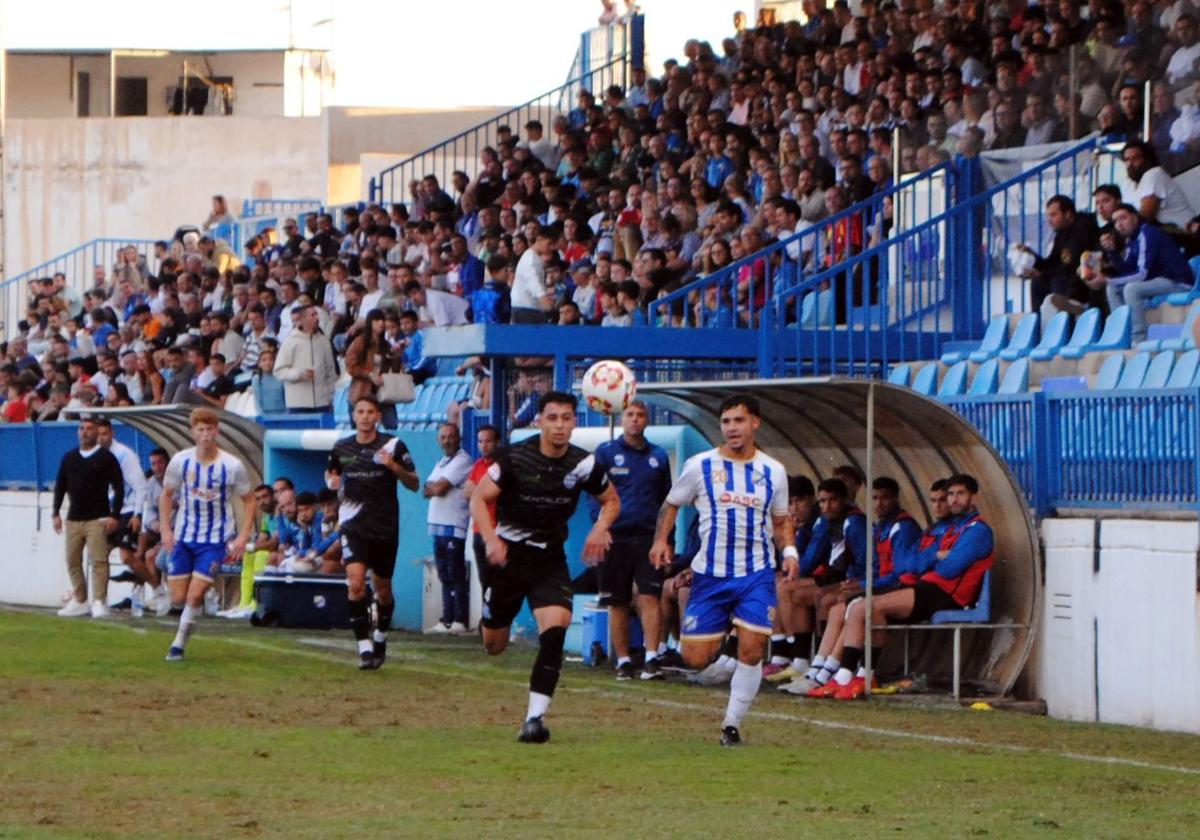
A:
MULTIPOLYGON (((128 630, 131 632, 139 632, 139 628, 134 628, 128 624, 107 623, 102 626, 119 628, 122 630, 128 630)), ((144 635, 145 631, 142 630, 140 632, 144 635)), ((348 658, 334 658, 330 654, 318 653, 316 650, 296 650, 295 648, 280 647, 277 644, 269 644, 268 642, 257 642, 250 638, 233 638, 229 636, 206 636, 205 638, 214 642, 224 642, 226 644, 233 644, 235 647, 251 648, 253 650, 264 650, 268 653, 284 654, 288 656, 301 656, 304 659, 316 659, 323 662, 330 662, 332 660, 335 662, 343 662, 347 666, 350 665, 356 666, 356 662, 352 661, 348 658)), ((301 638, 300 641, 305 644, 316 644, 318 647, 336 649, 338 652, 344 652, 347 649, 341 642, 337 642, 335 640, 318 640, 312 637, 305 637, 301 638)), ((397 654, 400 654, 398 650, 397 654)), ((421 654, 404 652, 403 654, 396 656, 396 665, 398 667, 403 667, 407 671, 424 673, 432 677, 444 677, 446 670, 456 672, 479 671, 476 666, 461 665, 461 664, 446 664, 445 667, 442 670, 414 666, 408 664, 409 661, 424 660, 424 659, 425 656, 422 656, 421 654)), ((392 661, 390 656, 389 661, 392 661)), ((505 679, 502 677, 488 677, 481 673, 461 673, 458 676, 485 683, 500 683, 514 688, 526 688, 524 682, 505 679)), ((606 697, 610 700, 629 701, 632 698, 632 695, 629 692, 607 691, 605 689, 596 689, 592 686, 564 685, 559 690, 568 691, 570 694, 584 694, 595 697, 606 697)), ((716 706, 706 706, 703 703, 685 703, 676 700, 664 700, 660 697, 641 696, 637 697, 637 702, 646 703, 647 706, 658 706, 665 709, 679 709, 682 712, 703 712, 706 714, 721 713, 721 709, 716 706)), ((751 709, 749 712, 749 716, 758 718, 761 720, 775 720, 788 724, 803 724, 805 726, 812 726, 823 730, 835 730, 840 732, 858 732, 862 734, 878 736, 882 738, 900 738, 907 740, 918 740, 926 744, 940 744, 943 746, 972 746, 984 750, 995 750, 997 752, 1013 752, 1019 755, 1040 755, 1040 756, 1049 756, 1052 758, 1067 758, 1069 761, 1078 761, 1087 764, 1133 767, 1142 770, 1162 770, 1164 773, 1178 773, 1182 775, 1200 776, 1200 768, 1178 767, 1176 764, 1156 764, 1154 762, 1150 761, 1139 761, 1136 758, 1122 758, 1120 756, 1097 756, 1097 755, 1090 755, 1087 752, 1057 752, 1054 750, 1043 750, 1036 746, 1021 746, 1019 744, 997 744, 994 742, 974 740, 972 738, 961 738, 958 736, 940 736, 940 734, 929 734, 924 732, 905 732, 904 730, 887 730, 880 726, 868 726, 864 724, 847 724, 838 720, 823 720, 821 718, 809 718, 805 715, 786 714, 782 712, 756 712, 751 709)))

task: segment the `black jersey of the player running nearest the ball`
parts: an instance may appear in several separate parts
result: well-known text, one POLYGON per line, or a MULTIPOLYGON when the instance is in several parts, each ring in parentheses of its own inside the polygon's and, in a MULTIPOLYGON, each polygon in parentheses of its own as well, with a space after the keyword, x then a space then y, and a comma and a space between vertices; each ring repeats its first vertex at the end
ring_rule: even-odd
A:
POLYGON ((511 542, 562 548, 580 493, 599 496, 608 474, 587 450, 569 445, 558 458, 542 455, 534 436, 496 455, 487 474, 500 488, 496 532, 511 542))

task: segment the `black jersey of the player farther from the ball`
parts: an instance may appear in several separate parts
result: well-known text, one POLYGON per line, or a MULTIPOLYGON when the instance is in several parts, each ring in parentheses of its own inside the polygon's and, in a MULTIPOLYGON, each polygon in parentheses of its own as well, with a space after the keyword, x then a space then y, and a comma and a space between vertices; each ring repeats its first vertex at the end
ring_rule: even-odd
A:
POLYGON ((334 444, 329 469, 342 474, 337 492, 338 530, 370 540, 396 539, 400 533, 400 480, 388 467, 376 462, 376 452, 386 449, 404 469, 414 469, 413 456, 400 438, 378 433, 371 443, 359 443, 352 434, 334 444))

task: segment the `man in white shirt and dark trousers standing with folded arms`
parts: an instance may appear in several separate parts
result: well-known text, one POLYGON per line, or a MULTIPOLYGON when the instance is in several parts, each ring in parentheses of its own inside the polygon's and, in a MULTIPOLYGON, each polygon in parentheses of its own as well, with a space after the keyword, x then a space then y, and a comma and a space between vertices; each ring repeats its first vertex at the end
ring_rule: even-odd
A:
POLYGON ((433 538, 433 559, 442 582, 442 620, 426 632, 467 632, 470 607, 470 576, 467 574, 467 498, 462 486, 473 461, 462 449, 458 427, 444 422, 438 430, 443 457, 430 470, 422 496, 430 500, 428 526, 433 538))

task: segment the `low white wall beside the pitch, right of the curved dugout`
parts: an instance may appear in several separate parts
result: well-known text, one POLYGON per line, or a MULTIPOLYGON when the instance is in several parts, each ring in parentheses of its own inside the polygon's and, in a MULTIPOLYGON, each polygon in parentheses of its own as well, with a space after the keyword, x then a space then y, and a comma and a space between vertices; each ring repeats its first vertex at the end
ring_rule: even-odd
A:
POLYGON ((1200 732, 1196 523, 1046 520, 1043 538, 1050 714, 1200 732))

